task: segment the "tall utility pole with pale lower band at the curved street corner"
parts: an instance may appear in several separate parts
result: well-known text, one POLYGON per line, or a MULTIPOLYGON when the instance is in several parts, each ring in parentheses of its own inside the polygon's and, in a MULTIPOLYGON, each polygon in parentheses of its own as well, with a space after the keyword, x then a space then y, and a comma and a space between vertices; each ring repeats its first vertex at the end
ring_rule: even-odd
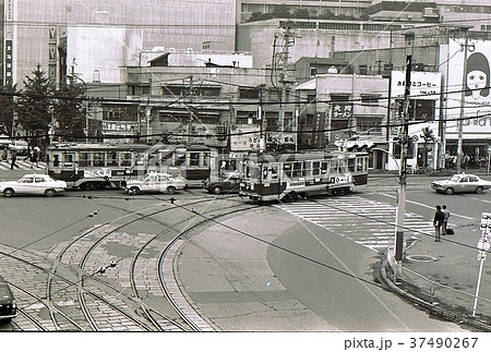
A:
POLYGON ((397 263, 402 263, 404 254, 404 216, 406 214, 406 157, 409 139, 409 94, 411 86, 411 56, 406 57, 406 90, 404 93, 403 125, 399 129, 400 162, 399 162, 399 191, 397 193, 395 254, 397 263))

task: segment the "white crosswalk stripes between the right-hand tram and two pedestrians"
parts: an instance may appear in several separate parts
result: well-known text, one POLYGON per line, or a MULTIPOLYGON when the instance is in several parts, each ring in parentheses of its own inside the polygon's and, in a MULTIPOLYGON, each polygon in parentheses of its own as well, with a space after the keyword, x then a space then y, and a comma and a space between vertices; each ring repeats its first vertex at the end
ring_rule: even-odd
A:
MULTIPOLYGON (((383 253, 394 245, 396 207, 390 204, 347 196, 315 203, 287 203, 276 207, 375 252, 383 253)), ((434 232, 432 222, 415 213, 406 213, 404 228, 406 239, 432 235, 434 232)))

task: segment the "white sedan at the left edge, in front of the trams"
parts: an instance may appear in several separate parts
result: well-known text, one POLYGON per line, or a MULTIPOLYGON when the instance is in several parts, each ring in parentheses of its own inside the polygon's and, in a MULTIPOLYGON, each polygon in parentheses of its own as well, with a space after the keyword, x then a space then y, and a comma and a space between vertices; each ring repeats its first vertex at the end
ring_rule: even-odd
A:
POLYGON ((67 182, 50 178, 47 174, 25 174, 19 181, 0 182, 0 192, 5 197, 14 194, 44 194, 52 197, 67 190, 67 182))

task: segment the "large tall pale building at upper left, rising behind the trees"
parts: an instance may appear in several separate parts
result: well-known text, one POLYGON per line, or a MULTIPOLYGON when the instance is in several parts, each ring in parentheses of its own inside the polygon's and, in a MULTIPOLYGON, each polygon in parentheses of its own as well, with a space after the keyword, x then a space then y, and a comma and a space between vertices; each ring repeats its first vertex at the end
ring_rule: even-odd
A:
POLYGON ((235 13, 236 0, 0 0, 1 83, 38 63, 56 82, 120 83, 142 50, 233 51, 235 13))

